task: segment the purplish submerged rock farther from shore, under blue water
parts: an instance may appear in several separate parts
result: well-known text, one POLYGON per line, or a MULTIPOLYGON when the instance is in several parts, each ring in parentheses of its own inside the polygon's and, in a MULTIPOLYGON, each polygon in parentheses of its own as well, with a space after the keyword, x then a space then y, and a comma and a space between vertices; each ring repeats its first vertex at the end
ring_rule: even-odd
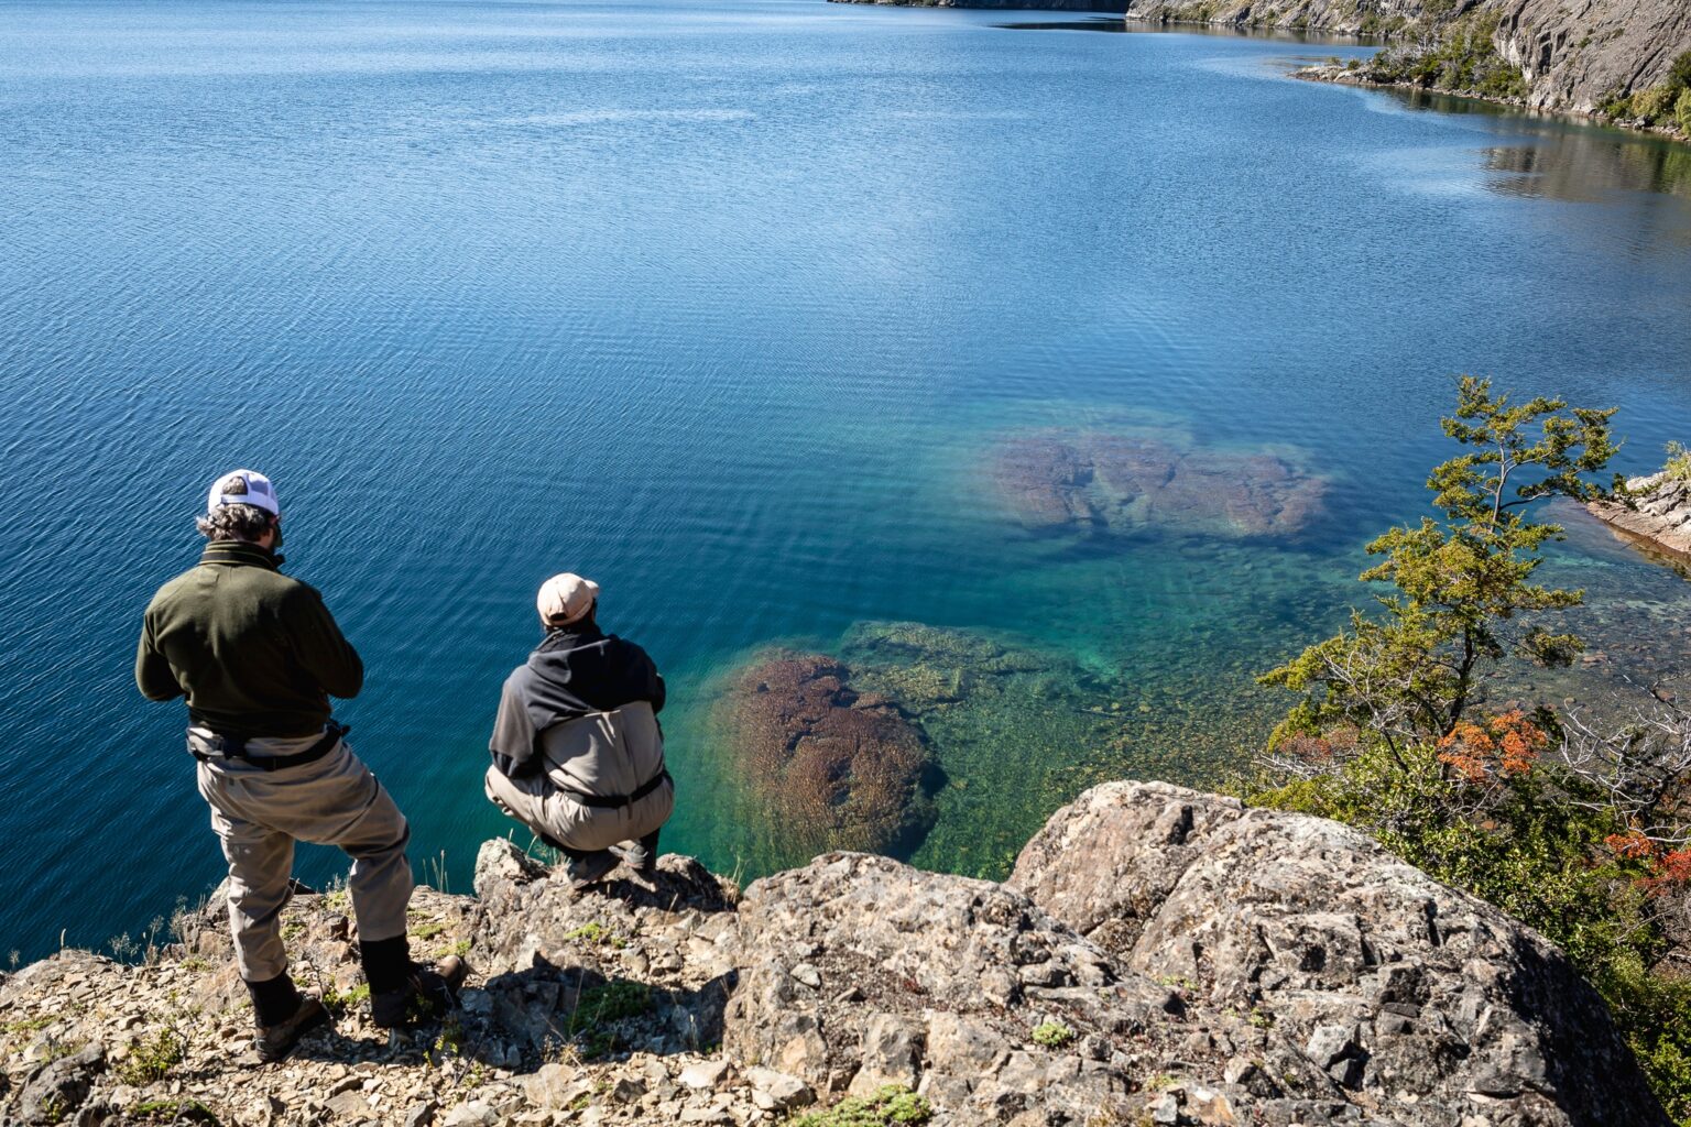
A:
POLYGON ((1008 439, 991 476, 1032 531, 1157 527, 1236 539, 1302 531, 1321 514, 1327 488, 1277 455, 1060 431, 1008 439))

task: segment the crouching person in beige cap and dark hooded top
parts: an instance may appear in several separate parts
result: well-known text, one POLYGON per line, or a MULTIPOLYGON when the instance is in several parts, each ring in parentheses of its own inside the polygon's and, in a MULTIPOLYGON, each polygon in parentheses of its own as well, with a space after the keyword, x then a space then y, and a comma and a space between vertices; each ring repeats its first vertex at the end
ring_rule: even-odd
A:
POLYGON ((599 629, 592 580, 553 576, 536 607, 546 637, 506 678, 487 798, 563 853, 577 889, 624 862, 649 875, 675 809, 663 678, 646 651, 599 629))

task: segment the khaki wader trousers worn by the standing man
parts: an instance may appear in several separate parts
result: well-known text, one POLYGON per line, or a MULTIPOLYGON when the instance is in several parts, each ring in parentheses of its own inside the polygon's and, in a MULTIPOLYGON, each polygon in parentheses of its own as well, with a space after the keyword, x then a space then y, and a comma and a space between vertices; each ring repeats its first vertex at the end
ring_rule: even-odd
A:
MULTIPOLYGON (((216 755, 205 728, 189 728, 200 754, 216 755)), ((294 755, 320 737, 252 738, 247 752, 294 755)), ((211 806, 211 828, 228 860, 228 926, 235 960, 247 982, 287 970, 281 912, 294 868, 294 841, 337 845, 352 857, 347 890, 358 941, 406 934, 411 901, 411 830, 404 814, 345 740, 323 759, 265 770, 240 759, 200 762, 200 794, 211 806)))

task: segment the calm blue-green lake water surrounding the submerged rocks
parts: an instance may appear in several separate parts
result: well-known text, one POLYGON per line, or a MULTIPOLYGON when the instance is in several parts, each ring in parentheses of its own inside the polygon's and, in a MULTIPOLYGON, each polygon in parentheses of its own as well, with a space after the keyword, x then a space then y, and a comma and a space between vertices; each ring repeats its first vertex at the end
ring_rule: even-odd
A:
MULTIPOLYGON (((1283 76, 1363 47, 820 0, 0 27, 0 958, 222 874, 181 705, 130 669, 237 465, 364 652, 340 716, 413 860, 468 890, 555 571, 670 678, 665 847, 725 872, 795 860, 714 721, 747 654, 1030 656, 928 723, 913 860, 1001 874, 1096 779, 1248 760, 1285 705, 1253 674, 1366 598, 1454 373, 1618 406, 1628 471, 1691 439, 1691 150, 1283 76), (991 466, 1053 431, 1278 451, 1324 510, 1033 534, 991 466)), ((1539 691, 1691 667, 1683 578, 1586 524, 1554 566, 1610 661, 1539 691)))

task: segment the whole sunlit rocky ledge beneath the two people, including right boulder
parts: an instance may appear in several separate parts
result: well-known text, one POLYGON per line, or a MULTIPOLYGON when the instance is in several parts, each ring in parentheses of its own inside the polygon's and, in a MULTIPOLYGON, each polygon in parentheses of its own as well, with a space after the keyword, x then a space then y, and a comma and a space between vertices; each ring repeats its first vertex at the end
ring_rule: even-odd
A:
POLYGON ((36 963, 0 983, 0 1120, 1667 1125, 1544 938, 1339 825, 1165 784, 1086 792, 1008 884, 827 853, 741 896, 665 857, 577 894, 489 841, 475 892, 419 894, 419 948, 477 973, 396 1037, 343 894, 296 897, 342 1017, 264 1068, 215 904, 152 965, 36 963))

